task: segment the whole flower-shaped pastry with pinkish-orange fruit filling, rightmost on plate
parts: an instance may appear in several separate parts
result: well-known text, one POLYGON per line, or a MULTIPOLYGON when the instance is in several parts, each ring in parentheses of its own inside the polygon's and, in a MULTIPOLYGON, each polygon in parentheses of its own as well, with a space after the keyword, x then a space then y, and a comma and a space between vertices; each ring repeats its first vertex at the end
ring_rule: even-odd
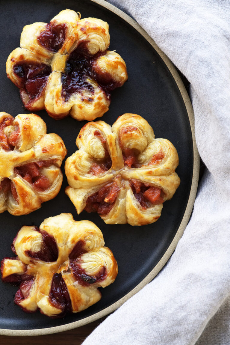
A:
POLYGON ((88 122, 76 144, 79 150, 67 158, 65 172, 66 194, 78 214, 98 212, 107 224, 150 224, 180 184, 176 148, 155 139, 139 115, 124 114, 112 127, 88 122))

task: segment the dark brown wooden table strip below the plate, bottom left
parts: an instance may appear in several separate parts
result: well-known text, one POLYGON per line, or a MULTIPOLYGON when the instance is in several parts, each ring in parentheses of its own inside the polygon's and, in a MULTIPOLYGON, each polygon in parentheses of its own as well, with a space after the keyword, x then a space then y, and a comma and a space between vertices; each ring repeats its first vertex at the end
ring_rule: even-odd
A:
POLYGON ((11 337, 0 335, 1 345, 80 345, 84 339, 96 328, 104 319, 103 317, 97 321, 91 322, 88 325, 71 329, 70 331, 39 335, 34 337, 11 337))

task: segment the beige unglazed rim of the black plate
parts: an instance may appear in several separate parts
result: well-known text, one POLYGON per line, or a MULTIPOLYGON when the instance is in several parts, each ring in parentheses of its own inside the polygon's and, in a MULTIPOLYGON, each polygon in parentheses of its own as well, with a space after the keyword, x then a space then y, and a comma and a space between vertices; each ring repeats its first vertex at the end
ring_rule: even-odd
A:
POLYGON ((52 333, 58 333, 58 332, 64 332, 68 331, 69 329, 73 329, 76 327, 80 327, 83 325, 86 325, 90 322, 96 321, 97 319, 106 316, 110 313, 112 313, 114 310, 119 308, 124 302, 126 302, 130 297, 135 295, 139 290, 141 290, 146 284, 150 283, 151 280, 160 272, 162 267, 167 263, 168 259, 174 252, 179 239, 181 238, 184 229, 186 228, 193 204, 195 201, 196 193, 197 193, 197 185, 198 185, 198 178, 199 178, 199 164, 200 164, 200 158, 197 150, 196 140, 195 140, 195 131, 194 131, 194 113, 192 109, 192 105, 188 96, 188 93, 183 85, 182 80, 180 79, 175 67, 173 66, 172 62, 169 60, 169 58, 160 50, 160 48, 156 45, 156 43, 153 41, 153 39, 147 34, 146 31, 142 29, 142 27, 131 17, 129 17, 126 13, 119 10, 117 7, 107 3, 104 0, 91 0, 93 2, 98 3, 102 7, 107 8, 111 12, 117 14, 119 17, 127 21, 134 29, 136 29, 140 34, 153 46, 153 48, 158 52, 164 63, 167 65, 168 69, 170 70, 174 80, 177 83, 177 86, 180 90, 180 93, 183 97, 184 104, 186 106, 190 126, 191 126, 191 132, 192 132, 192 141, 193 141, 193 175, 192 175, 192 185, 189 195, 188 204, 186 207, 186 210, 184 212, 183 219, 181 221, 180 227, 173 238, 169 248, 167 249, 166 253, 163 255, 163 257, 160 259, 158 264, 152 269, 152 271, 142 280, 140 284, 138 284, 134 289, 132 289, 127 295, 119 299, 117 302, 113 303, 109 307, 103 309, 102 311, 88 316, 82 320, 71 322, 66 325, 57 326, 57 327, 49 327, 49 328, 40 328, 40 329, 0 329, 1 335, 11 335, 11 336, 32 336, 32 335, 44 335, 44 334, 52 334, 52 333))

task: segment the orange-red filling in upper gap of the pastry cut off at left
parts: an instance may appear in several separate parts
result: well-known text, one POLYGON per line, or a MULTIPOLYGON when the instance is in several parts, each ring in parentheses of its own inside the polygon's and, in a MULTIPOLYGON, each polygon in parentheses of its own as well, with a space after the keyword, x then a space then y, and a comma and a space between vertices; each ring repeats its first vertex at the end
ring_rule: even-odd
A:
POLYGON ((19 128, 18 126, 14 126, 15 130, 11 132, 9 138, 7 138, 6 134, 4 133, 4 128, 7 126, 12 126, 14 118, 8 117, 4 118, 0 124, 0 145, 5 151, 10 151, 14 149, 19 137, 19 128))

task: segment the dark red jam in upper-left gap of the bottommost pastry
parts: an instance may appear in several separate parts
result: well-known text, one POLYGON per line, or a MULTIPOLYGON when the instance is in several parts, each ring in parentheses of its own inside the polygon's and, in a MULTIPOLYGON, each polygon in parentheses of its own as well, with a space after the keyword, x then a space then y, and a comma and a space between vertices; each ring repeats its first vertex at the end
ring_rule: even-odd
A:
POLYGON ((58 247, 55 238, 48 234, 44 230, 39 230, 39 228, 35 228, 37 231, 40 231, 43 239, 42 248, 39 252, 32 252, 31 250, 27 250, 26 254, 29 255, 31 258, 39 259, 45 262, 53 262, 57 261, 58 259, 58 247))

